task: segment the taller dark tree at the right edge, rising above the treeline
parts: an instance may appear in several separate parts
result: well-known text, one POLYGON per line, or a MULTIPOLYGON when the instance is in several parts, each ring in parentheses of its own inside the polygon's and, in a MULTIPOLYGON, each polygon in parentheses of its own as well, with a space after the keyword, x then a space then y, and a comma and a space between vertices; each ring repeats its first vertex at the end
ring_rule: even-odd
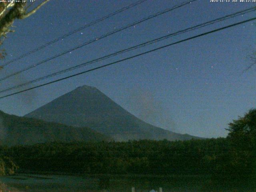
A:
POLYGON ((256 109, 249 110, 244 117, 229 124, 227 139, 231 143, 230 170, 234 176, 250 178, 256 176, 256 109))

